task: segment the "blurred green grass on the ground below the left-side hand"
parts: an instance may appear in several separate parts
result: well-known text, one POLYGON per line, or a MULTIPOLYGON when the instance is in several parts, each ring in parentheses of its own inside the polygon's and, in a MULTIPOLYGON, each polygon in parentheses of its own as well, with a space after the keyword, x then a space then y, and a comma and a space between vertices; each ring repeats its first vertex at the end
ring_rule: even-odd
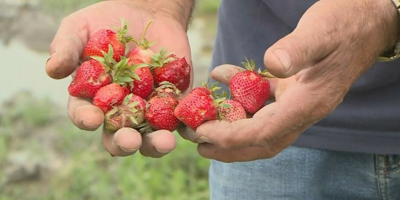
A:
POLYGON ((18 110, 18 116, 24 117, 2 115, 0 122, 0 200, 208 199, 209 161, 198 155, 195 144, 176 136, 176 150, 163 158, 147 158, 139 153, 113 158, 103 149, 99 131, 78 130, 66 117, 52 120, 57 116, 56 109, 44 108, 44 100, 16 102, 6 112, 18 110), (32 119, 32 113, 38 114, 39 110, 47 118, 43 114, 40 120, 32 119), (16 127, 20 122, 34 122, 29 125, 28 136, 16 127), (44 135, 49 128, 52 131, 44 135), (53 138, 50 147, 41 141, 43 136, 53 138), (14 151, 29 152, 52 170, 45 170, 40 180, 2 187, 4 169, 12 166, 8 159, 14 151), (56 155, 56 160, 51 155, 56 155))

